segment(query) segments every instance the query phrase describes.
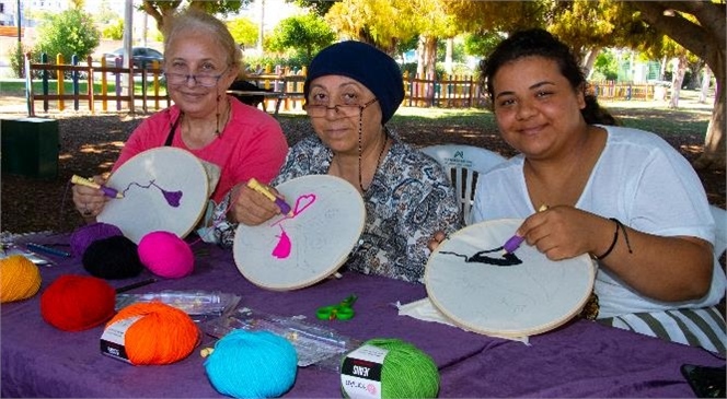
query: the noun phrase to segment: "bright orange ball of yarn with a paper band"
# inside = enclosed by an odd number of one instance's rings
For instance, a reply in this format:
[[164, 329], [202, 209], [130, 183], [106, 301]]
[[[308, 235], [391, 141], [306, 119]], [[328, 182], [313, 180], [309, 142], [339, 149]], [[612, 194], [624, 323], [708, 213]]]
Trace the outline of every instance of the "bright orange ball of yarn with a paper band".
[[170, 364], [186, 357], [200, 340], [192, 318], [176, 307], [161, 302], [136, 303], [122, 308], [108, 320], [114, 322], [139, 317], [124, 336], [126, 355], [131, 364]]

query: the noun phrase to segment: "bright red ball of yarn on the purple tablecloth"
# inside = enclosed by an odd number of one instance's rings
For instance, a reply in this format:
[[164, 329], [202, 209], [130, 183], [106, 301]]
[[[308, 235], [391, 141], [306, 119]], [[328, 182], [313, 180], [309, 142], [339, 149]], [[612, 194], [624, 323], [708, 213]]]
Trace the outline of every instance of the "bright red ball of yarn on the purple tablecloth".
[[64, 331], [82, 331], [114, 316], [116, 291], [106, 281], [89, 275], [64, 274], [41, 295], [41, 315]]

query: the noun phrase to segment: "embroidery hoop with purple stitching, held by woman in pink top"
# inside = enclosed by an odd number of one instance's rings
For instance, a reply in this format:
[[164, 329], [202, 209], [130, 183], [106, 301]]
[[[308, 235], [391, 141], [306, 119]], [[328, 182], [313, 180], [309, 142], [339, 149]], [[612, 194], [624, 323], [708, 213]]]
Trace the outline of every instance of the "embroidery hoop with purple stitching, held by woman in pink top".
[[[182, 191], [178, 207], [172, 207], [161, 189]], [[207, 172], [191, 152], [160, 146], [143, 151], [114, 172], [108, 187], [124, 193], [106, 202], [96, 220], [118, 226], [136, 244], [148, 233], [166, 231], [184, 238], [200, 220], [209, 192]], [[127, 190], [128, 188], [128, 190]]]

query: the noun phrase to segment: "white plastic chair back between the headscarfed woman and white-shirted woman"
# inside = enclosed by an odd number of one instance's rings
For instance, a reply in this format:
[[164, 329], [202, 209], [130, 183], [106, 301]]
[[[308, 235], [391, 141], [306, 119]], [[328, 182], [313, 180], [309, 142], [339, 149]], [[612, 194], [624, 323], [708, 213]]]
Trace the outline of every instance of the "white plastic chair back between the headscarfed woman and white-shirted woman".
[[477, 176], [507, 160], [496, 152], [463, 144], [430, 145], [420, 151], [435, 159], [447, 172], [459, 197], [465, 223], [474, 203]]

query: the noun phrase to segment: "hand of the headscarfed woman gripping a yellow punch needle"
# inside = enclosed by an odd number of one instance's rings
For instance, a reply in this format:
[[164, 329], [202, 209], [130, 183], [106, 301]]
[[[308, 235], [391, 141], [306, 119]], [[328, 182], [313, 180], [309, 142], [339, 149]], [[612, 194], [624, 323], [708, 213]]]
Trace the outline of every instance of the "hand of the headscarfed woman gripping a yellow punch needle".
[[[277, 195], [274, 188], [270, 188], [270, 191]], [[280, 209], [274, 201], [245, 184], [235, 186], [232, 189], [231, 198], [232, 207], [230, 207], [228, 218], [238, 223], [255, 226], [280, 213]]]

